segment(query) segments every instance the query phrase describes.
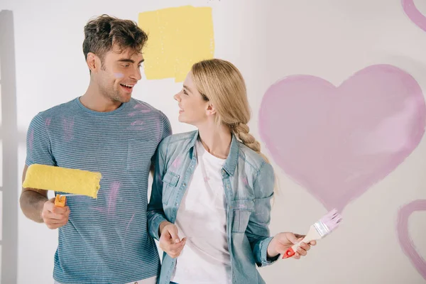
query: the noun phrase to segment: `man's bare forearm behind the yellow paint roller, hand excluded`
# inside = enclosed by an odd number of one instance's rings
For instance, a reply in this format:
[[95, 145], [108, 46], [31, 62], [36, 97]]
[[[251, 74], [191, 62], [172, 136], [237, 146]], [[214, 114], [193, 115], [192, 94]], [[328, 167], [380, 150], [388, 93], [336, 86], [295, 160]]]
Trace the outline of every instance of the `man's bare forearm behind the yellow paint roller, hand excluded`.
[[[25, 180], [26, 171], [28, 165], [25, 165], [23, 168], [22, 182]], [[37, 190], [35, 188], [23, 188], [21, 192], [21, 198], [19, 203], [21, 204], [21, 210], [23, 214], [38, 223], [43, 223], [43, 217], [41, 217], [41, 212], [43, 212], [43, 206], [45, 202], [48, 201], [48, 191], [47, 190]]]

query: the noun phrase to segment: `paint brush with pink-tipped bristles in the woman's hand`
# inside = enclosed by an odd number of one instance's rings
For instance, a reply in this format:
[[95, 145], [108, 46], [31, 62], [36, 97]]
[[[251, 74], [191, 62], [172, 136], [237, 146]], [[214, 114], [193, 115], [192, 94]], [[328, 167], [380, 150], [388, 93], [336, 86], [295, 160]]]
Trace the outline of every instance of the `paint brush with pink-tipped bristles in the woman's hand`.
[[325, 214], [324, 217], [322, 217], [320, 220], [315, 222], [315, 224], [310, 226], [310, 229], [307, 232], [305, 238], [303, 238], [302, 241], [298, 242], [297, 244], [294, 244], [292, 247], [290, 247], [290, 249], [285, 251], [283, 258], [290, 258], [294, 256], [301, 242], [309, 244], [311, 241], [323, 239], [334, 229], [336, 229], [337, 226], [339, 226], [340, 222], [342, 222], [342, 217], [339, 213], [337, 213], [337, 209], [332, 209], [332, 211]]

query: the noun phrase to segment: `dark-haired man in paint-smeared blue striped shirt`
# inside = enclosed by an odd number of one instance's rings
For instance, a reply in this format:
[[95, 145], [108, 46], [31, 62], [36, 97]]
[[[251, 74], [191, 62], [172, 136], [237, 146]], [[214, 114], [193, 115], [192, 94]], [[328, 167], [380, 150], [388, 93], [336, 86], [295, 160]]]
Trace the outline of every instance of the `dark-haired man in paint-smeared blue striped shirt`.
[[148, 39], [136, 23], [103, 15], [84, 27], [87, 92], [37, 114], [26, 166], [38, 163], [102, 173], [98, 198], [23, 188], [26, 217], [59, 228], [55, 283], [155, 283], [160, 259], [148, 235], [148, 175], [158, 143], [171, 134], [161, 111], [131, 98]]

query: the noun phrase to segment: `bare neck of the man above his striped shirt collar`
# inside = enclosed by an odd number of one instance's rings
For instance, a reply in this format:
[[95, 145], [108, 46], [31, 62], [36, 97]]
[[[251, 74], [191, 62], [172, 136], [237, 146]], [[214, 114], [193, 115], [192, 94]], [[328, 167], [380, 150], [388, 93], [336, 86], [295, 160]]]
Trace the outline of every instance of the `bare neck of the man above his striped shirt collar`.
[[108, 112], [114, 111], [121, 106], [121, 102], [113, 101], [102, 94], [97, 86], [89, 84], [86, 93], [80, 97], [80, 102], [92, 111]]

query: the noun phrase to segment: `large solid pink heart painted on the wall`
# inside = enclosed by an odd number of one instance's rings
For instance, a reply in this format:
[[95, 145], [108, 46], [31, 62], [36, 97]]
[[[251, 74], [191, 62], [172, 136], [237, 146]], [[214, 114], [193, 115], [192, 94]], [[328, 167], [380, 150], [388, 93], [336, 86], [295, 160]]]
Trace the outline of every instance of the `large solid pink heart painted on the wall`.
[[417, 147], [425, 112], [413, 77], [373, 65], [339, 87], [307, 75], [273, 84], [261, 103], [259, 131], [285, 173], [327, 209], [342, 210]]

